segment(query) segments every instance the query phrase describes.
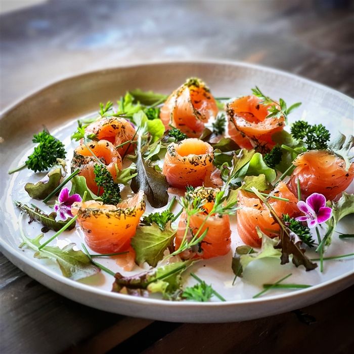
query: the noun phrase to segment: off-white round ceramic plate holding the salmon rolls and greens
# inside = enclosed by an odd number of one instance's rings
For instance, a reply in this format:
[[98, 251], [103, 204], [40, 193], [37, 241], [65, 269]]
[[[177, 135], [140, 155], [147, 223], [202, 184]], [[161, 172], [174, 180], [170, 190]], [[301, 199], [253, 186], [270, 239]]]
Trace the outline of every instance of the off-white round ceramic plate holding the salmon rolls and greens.
[[[61, 139], [68, 149], [70, 133], [75, 129], [76, 119], [97, 111], [99, 102], [117, 100], [126, 90], [140, 88], [170, 93], [187, 77], [201, 77], [211, 87], [216, 97], [240, 96], [250, 93], [258, 85], [274, 98], [282, 97], [288, 104], [302, 102], [300, 109], [291, 114], [291, 121], [300, 117], [310, 123], [325, 124], [332, 134], [338, 129], [351, 134], [353, 127], [353, 100], [323, 85], [287, 74], [278, 70], [241, 63], [226, 62], [179, 62], [148, 64], [97, 71], [62, 80], [21, 100], [3, 113], [1, 144], [1, 246], [5, 255], [32, 278], [54, 291], [80, 303], [105, 311], [144, 317], [149, 319], [179, 322], [228, 322], [270, 316], [309, 305], [331, 296], [354, 283], [354, 259], [325, 262], [325, 271], [318, 269], [305, 272], [292, 263], [280, 266], [278, 260], [255, 261], [232, 286], [232, 254], [200, 261], [192, 270], [227, 299], [208, 303], [171, 302], [155, 298], [139, 298], [110, 292], [111, 276], [101, 273], [90, 279], [75, 282], [64, 278], [57, 265], [48, 260], [33, 258], [31, 250], [18, 248], [20, 236], [12, 200], [28, 201], [23, 186], [28, 180], [35, 181], [27, 170], [12, 176], [9, 168], [16, 167], [30, 153], [31, 137], [45, 124]], [[351, 186], [352, 192], [352, 186]], [[41, 205], [37, 203], [37, 205]], [[233, 250], [241, 244], [232, 220]], [[29, 235], [39, 233], [36, 223], [25, 225]], [[338, 231], [353, 233], [352, 219], [346, 218]], [[50, 237], [51, 232], [46, 234]], [[77, 231], [62, 234], [57, 244], [74, 241], [80, 244]], [[339, 240], [326, 255], [353, 252], [352, 240]], [[308, 254], [311, 255], [310, 252]], [[315, 256], [315, 254], [313, 254]], [[114, 260], [100, 259], [112, 270], [119, 270]], [[203, 267], [205, 265], [205, 267]], [[137, 268], [134, 273], [138, 273]], [[124, 273], [124, 272], [123, 272]], [[187, 272], [188, 273], [188, 272]], [[292, 283], [310, 284], [313, 287], [294, 291], [269, 291], [264, 296], [252, 299], [261, 290], [263, 283], [270, 283], [292, 273]], [[186, 284], [194, 281], [189, 277]]]

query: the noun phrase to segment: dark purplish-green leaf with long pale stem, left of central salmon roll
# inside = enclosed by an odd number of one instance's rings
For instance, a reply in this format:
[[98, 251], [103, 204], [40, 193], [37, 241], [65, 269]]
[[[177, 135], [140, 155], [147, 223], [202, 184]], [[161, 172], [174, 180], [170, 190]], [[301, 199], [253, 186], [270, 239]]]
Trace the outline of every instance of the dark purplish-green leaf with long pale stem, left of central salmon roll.
[[143, 190], [148, 198], [149, 203], [154, 208], [161, 208], [168, 202], [168, 183], [166, 177], [158, 172], [153, 166], [150, 166], [149, 161], [146, 161], [144, 154], [147, 146], [143, 146], [142, 135], [146, 129], [146, 123], [140, 122], [140, 134], [137, 141], [137, 172], [138, 174], [131, 180], [130, 188], [137, 193]]

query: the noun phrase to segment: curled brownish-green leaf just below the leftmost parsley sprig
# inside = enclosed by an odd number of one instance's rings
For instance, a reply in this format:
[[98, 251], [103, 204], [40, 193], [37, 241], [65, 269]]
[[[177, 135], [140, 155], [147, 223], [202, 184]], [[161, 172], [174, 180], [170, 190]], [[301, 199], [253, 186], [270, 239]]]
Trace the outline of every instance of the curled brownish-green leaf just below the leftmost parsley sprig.
[[58, 159], [58, 162], [59, 164], [54, 165], [40, 181], [25, 184], [25, 191], [31, 198], [43, 200], [59, 186], [61, 178], [65, 175], [65, 161]]

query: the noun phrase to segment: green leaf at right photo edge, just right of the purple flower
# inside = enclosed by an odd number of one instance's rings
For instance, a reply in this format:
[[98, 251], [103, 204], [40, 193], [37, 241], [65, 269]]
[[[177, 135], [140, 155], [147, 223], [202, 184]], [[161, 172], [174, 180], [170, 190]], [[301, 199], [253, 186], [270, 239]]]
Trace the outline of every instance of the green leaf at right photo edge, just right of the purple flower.
[[354, 214], [354, 194], [343, 192], [343, 195], [337, 202], [328, 200], [327, 206], [332, 208], [332, 216], [326, 222], [327, 231], [324, 236], [326, 245], [328, 246], [332, 242], [332, 235], [339, 220], [346, 215]]

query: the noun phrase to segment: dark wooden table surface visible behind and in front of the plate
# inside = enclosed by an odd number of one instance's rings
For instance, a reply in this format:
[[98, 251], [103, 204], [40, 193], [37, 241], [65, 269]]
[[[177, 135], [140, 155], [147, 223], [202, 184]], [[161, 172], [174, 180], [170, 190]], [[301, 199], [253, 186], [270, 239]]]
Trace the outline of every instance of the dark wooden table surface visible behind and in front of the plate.
[[[260, 63], [354, 96], [350, 2], [53, 1], [1, 19], [1, 107], [61, 77], [146, 61]], [[254, 83], [250, 83], [252, 85]], [[43, 287], [1, 256], [8, 353], [346, 353], [354, 287], [307, 308], [232, 324], [153, 322], [98, 311]]]

